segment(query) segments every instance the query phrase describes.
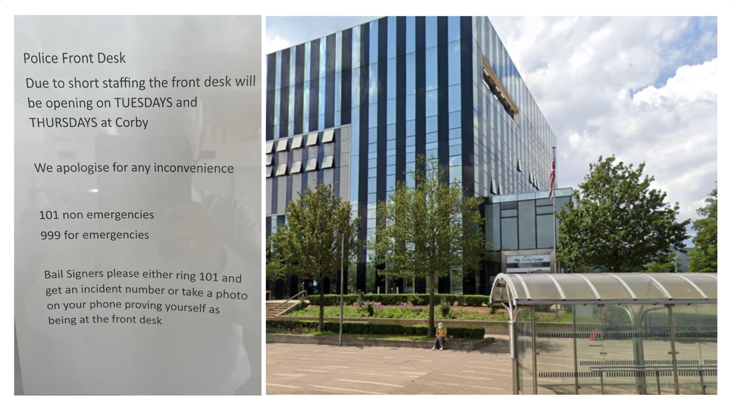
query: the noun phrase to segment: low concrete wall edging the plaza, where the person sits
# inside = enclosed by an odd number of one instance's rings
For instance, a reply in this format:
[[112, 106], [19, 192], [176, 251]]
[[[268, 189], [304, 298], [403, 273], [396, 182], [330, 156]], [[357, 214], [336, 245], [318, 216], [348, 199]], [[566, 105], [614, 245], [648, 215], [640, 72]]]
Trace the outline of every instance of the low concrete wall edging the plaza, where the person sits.
[[[339, 343], [338, 336], [312, 336], [300, 334], [265, 334], [265, 342], [281, 342], [286, 344], [320, 344], [336, 345]], [[477, 339], [475, 341], [451, 341], [446, 342], [446, 350], [472, 351], [494, 342], [493, 337]], [[370, 338], [360, 336], [345, 336], [342, 344], [348, 347], [403, 347], [403, 348], [432, 348], [432, 341], [418, 341], [416, 339], [388, 339]]]

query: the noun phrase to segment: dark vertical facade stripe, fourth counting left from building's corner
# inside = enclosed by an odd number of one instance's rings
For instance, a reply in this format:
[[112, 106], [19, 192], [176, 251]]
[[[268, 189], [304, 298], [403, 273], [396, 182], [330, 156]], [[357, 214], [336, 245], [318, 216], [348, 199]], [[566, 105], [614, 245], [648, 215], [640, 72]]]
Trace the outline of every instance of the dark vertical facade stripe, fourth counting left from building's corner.
[[395, 125], [395, 135], [397, 140], [395, 141], [395, 147], [397, 148], [397, 158], [395, 158], [395, 179], [399, 182], [405, 181], [405, 135], [407, 134], [407, 128], [405, 128], [405, 117], [407, 106], [405, 103], [405, 92], [407, 92], [407, 86], [405, 81], [407, 80], [407, 57], [405, 56], [405, 43], [407, 41], [406, 23], [407, 18], [397, 17], [397, 27], [395, 29], [395, 37], [397, 39], [397, 59], [395, 61], [396, 67], [396, 82], [395, 82], [395, 95], [397, 95], [397, 111], [395, 119], [397, 121]]

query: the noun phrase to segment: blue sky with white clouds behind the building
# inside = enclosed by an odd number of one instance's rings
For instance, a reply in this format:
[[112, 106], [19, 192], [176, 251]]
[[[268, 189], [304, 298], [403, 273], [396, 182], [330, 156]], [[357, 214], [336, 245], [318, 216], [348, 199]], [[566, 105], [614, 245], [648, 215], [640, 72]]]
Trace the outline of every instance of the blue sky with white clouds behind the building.
[[[371, 19], [268, 17], [265, 52]], [[716, 18], [490, 20], [557, 137], [561, 186], [614, 154], [696, 218], [718, 180]]]

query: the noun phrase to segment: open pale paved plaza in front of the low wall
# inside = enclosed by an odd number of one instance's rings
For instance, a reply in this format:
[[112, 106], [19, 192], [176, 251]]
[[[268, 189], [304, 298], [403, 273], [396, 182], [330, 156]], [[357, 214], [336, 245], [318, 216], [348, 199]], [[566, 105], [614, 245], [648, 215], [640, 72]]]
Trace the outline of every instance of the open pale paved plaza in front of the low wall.
[[480, 350], [267, 344], [268, 394], [511, 394], [509, 337]]

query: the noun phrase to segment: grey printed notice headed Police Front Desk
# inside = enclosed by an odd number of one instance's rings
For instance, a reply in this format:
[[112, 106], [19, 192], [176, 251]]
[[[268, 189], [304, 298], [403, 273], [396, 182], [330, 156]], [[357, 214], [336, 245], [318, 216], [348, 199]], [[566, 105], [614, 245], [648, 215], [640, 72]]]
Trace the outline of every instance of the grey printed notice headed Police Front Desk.
[[260, 25], [15, 19], [23, 394], [260, 393]]

